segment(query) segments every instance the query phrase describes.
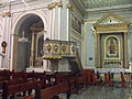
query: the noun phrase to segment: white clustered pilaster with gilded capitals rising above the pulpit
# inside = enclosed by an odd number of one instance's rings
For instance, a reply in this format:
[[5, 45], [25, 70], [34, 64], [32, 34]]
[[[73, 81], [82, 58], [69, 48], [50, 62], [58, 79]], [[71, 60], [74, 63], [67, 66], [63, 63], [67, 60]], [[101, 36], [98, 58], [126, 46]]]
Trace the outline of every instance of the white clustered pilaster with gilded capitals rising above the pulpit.
[[51, 38], [68, 41], [70, 33], [70, 11], [73, 10], [69, 1], [54, 1], [47, 8], [51, 13]]

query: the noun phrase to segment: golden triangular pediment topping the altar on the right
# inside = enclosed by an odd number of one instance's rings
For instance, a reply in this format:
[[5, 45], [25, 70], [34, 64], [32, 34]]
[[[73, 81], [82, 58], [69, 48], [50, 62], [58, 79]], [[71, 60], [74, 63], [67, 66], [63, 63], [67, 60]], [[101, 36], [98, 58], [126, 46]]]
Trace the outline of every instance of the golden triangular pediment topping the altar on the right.
[[[111, 22], [107, 22], [108, 20], [110, 20]], [[118, 22], [112, 23], [112, 20], [117, 20]], [[118, 16], [117, 14], [110, 12], [108, 14], [106, 14], [105, 16], [102, 16], [100, 20], [98, 20], [95, 24], [94, 28], [97, 31], [97, 33], [102, 33], [105, 31], [128, 31], [128, 29], [130, 28], [131, 23], [121, 18]]]

